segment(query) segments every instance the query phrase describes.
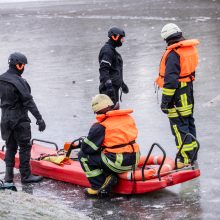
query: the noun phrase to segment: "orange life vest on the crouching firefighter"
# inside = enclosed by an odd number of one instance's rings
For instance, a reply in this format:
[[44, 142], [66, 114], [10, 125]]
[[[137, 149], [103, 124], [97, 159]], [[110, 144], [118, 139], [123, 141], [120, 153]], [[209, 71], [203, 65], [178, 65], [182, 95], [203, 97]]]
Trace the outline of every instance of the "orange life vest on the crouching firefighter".
[[134, 119], [129, 115], [132, 109], [113, 110], [97, 115], [98, 123], [105, 127], [102, 146], [104, 153], [132, 153], [139, 151], [135, 142], [138, 130]]

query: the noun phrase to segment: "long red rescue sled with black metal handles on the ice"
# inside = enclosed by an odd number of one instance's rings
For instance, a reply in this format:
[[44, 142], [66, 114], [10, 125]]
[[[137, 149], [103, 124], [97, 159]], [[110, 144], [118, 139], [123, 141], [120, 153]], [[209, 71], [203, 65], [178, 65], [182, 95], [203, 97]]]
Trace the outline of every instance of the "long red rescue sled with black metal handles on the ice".
[[[183, 148], [187, 136], [191, 136], [193, 139], [195, 139], [198, 148], [193, 156], [192, 164], [182, 169], [177, 169], [177, 157]], [[36, 142], [52, 144], [55, 146], [55, 149], [38, 145]], [[69, 154], [71, 150], [74, 152], [77, 148], [74, 142], [72, 142], [71, 147], [73, 149], [70, 148], [67, 154]], [[155, 147], [158, 147], [161, 150], [162, 155], [153, 156], [151, 154]], [[168, 186], [176, 185], [178, 183], [186, 182], [200, 176], [199, 168], [196, 167], [193, 163], [194, 158], [198, 153], [199, 147], [200, 145], [196, 138], [191, 134], [187, 134], [183, 140], [182, 146], [177, 153], [176, 159], [173, 160], [166, 157], [166, 152], [158, 143], [154, 143], [151, 146], [148, 155], [146, 157], [141, 157], [140, 162], [135, 170], [119, 174], [119, 181], [118, 184], [113, 187], [113, 192], [120, 194], [147, 193], [163, 189]], [[67, 161], [64, 160], [61, 165], [42, 160], [46, 156], [58, 155], [60, 152], [64, 151], [58, 150], [56, 143], [33, 139], [31, 151], [32, 173], [55, 180], [89, 187], [90, 184], [76, 157], [75, 159], [71, 158], [67, 159]], [[0, 158], [4, 160], [4, 157], [5, 151], [4, 147], [2, 147], [2, 150], [0, 151]], [[18, 154], [16, 155], [15, 166], [16, 168], [19, 167]]]

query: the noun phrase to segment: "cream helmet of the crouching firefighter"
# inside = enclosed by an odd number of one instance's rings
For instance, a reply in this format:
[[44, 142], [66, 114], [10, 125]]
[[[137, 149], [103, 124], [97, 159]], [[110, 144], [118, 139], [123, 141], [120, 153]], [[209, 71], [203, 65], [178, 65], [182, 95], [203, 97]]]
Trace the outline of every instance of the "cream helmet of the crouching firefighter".
[[107, 107], [113, 107], [114, 103], [112, 100], [105, 94], [98, 94], [92, 98], [92, 110], [94, 113], [97, 113]]

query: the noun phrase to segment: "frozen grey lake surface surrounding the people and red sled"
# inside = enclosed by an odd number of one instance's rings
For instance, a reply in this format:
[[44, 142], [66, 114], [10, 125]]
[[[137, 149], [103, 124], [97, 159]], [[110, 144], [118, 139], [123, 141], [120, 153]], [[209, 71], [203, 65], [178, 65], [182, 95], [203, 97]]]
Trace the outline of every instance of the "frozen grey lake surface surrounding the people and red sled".
[[[153, 82], [165, 48], [161, 28], [180, 26], [186, 38], [200, 40], [195, 83], [195, 118], [201, 143], [201, 177], [141, 196], [91, 200], [83, 189], [45, 180], [25, 191], [83, 211], [93, 219], [219, 219], [220, 214], [220, 2], [209, 0], [74, 0], [0, 4], [0, 70], [11, 52], [27, 55], [24, 78], [47, 123], [33, 137], [57, 142], [86, 135], [94, 115], [90, 100], [98, 92], [98, 53], [112, 26], [125, 29], [119, 48], [130, 93], [122, 108], [133, 108], [142, 154], [159, 142], [168, 155], [176, 148], [169, 122], [160, 111]], [[3, 166], [0, 165], [1, 169]], [[18, 188], [21, 189], [19, 181]]]

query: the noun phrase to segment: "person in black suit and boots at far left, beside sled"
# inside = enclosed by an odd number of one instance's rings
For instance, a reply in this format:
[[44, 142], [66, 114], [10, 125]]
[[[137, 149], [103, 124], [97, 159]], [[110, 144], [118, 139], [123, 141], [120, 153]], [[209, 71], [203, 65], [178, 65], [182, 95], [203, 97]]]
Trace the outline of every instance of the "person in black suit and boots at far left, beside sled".
[[0, 75], [0, 99], [1, 99], [1, 135], [6, 142], [5, 153], [5, 183], [13, 183], [15, 154], [19, 146], [19, 170], [22, 183], [39, 182], [41, 176], [31, 174], [31, 127], [28, 111], [37, 120], [39, 131], [44, 131], [46, 124], [31, 95], [31, 88], [22, 78], [27, 58], [25, 55], [15, 52], [8, 58], [9, 69]]

